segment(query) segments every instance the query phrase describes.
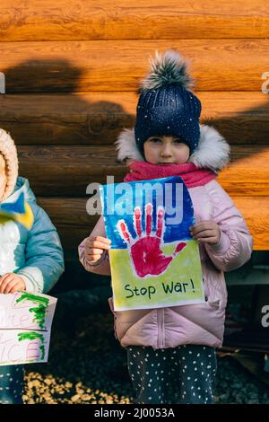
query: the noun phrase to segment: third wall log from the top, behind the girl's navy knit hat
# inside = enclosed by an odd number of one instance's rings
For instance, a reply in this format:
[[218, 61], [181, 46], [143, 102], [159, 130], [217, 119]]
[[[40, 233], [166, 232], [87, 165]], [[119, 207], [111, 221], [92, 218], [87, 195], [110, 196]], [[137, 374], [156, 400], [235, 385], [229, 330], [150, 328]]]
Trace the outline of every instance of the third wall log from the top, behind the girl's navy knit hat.
[[[230, 144], [267, 144], [269, 101], [263, 92], [198, 92], [201, 123], [212, 125]], [[113, 144], [133, 127], [133, 92], [0, 95], [0, 127], [17, 145]]]

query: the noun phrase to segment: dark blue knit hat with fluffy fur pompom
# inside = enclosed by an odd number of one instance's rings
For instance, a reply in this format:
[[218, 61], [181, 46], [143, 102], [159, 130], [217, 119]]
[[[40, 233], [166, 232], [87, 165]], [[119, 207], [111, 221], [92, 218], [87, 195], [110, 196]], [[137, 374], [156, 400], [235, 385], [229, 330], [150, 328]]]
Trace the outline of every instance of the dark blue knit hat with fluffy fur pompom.
[[143, 154], [143, 143], [150, 136], [178, 136], [192, 154], [200, 137], [201, 102], [188, 88], [193, 79], [187, 74], [187, 63], [177, 51], [156, 53], [152, 70], [140, 88], [136, 109], [134, 136]]

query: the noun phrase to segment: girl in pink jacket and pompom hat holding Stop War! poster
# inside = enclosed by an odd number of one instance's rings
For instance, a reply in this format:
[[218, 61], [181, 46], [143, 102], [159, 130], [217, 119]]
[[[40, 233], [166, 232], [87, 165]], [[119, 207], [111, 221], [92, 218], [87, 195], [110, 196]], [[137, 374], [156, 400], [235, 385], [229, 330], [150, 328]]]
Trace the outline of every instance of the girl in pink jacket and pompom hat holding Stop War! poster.
[[[205, 302], [151, 310], [115, 312], [116, 336], [126, 347], [136, 403], [167, 403], [177, 382], [180, 403], [213, 403], [215, 347], [221, 347], [227, 291], [223, 272], [251, 256], [252, 237], [243, 216], [215, 180], [230, 148], [213, 127], [199, 125], [201, 103], [176, 51], [156, 55], [143, 80], [134, 130], [117, 140], [127, 159], [125, 181], [179, 175], [195, 210], [189, 228], [199, 244]], [[103, 218], [79, 246], [84, 268], [108, 275], [110, 241]]]

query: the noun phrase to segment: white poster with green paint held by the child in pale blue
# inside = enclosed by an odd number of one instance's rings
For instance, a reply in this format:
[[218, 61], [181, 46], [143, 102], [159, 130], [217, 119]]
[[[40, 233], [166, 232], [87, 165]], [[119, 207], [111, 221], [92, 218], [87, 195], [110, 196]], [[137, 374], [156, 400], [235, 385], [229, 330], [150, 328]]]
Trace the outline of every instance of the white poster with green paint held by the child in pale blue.
[[0, 295], [0, 365], [48, 362], [56, 298], [27, 292]]

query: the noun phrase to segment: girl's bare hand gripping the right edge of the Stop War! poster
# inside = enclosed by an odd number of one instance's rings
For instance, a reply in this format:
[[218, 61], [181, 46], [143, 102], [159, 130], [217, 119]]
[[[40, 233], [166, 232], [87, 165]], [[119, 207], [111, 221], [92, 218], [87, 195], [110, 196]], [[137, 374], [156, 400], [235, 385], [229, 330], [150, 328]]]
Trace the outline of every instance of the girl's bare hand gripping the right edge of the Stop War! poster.
[[220, 242], [221, 229], [213, 220], [200, 221], [189, 227], [192, 237], [197, 242], [215, 245]]

